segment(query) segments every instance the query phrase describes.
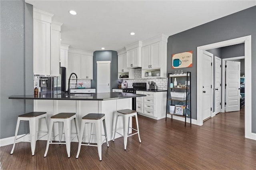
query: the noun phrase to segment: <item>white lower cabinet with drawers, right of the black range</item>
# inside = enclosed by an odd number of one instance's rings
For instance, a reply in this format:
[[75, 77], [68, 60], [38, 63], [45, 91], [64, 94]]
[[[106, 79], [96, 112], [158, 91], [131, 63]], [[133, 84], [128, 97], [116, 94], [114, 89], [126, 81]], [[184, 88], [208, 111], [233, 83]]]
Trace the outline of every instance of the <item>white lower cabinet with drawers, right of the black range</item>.
[[144, 94], [146, 97], [136, 97], [136, 111], [140, 115], [153, 119], [162, 119], [166, 115], [166, 91], [136, 91], [136, 94]]

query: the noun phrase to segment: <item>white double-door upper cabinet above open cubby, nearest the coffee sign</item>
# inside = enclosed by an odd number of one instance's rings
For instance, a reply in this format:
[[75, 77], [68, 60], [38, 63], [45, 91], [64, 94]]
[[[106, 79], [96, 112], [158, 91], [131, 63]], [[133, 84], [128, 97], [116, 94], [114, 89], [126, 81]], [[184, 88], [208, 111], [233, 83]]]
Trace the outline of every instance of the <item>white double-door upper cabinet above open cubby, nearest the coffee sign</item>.
[[156, 69], [160, 67], [160, 42], [142, 47], [142, 69]]

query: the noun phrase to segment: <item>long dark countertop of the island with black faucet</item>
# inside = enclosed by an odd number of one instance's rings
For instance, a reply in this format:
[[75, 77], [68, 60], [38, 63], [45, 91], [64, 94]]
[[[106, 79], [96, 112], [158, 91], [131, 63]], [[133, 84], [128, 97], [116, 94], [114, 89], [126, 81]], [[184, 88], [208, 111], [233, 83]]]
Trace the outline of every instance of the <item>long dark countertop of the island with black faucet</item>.
[[[138, 95], [138, 94], [133, 94], [133, 93], [121, 93], [121, 92], [75, 94], [75, 95], [70, 95], [70, 96], [60, 95], [60, 93], [64, 93], [64, 92], [62, 92], [62, 91], [46, 91], [46, 92], [40, 92], [39, 95], [10, 96], [9, 99], [105, 101], [105, 100], [126, 99], [126, 98], [146, 96], [146, 95]], [[59, 95], [57, 95], [57, 94], [59, 94]]]

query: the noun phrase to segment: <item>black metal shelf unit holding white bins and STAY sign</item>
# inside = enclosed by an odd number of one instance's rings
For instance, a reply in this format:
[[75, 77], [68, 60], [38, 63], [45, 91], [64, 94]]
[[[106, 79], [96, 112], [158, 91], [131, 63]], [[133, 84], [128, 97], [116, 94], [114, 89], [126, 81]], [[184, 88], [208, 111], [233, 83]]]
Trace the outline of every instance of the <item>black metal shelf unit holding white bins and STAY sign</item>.
[[[170, 87], [170, 83], [173, 83], [173, 79], [176, 78], [178, 83], [185, 84], [185, 81], [187, 82], [186, 87]], [[190, 82], [190, 83], [188, 83]], [[174, 75], [172, 73], [168, 73], [168, 90], [167, 90], [167, 101], [166, 101], [166, 118], [167, 120], [167, 115], [175, 115], [179, 117], [184, 117], [185, 118], [185, 126], [186, 126], [186, 118], [190, 118], [190, 125], [191, 125], [191, 72], [187, 72], [182, 75]], [[179, 100], [177, 98], [172, 99], [171, 92], [186, 92], [186, 98]], [[170, 105], [185, 105], [184, 113], [183, 115], [177, 115], [174, 113], [170, 113]]]

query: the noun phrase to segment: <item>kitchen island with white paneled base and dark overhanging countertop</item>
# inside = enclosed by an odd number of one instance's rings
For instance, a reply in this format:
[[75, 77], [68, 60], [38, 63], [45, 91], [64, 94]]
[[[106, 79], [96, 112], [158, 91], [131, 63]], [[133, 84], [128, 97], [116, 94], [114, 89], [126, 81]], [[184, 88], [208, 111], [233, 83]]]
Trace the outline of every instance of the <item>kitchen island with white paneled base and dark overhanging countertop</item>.
[[[116, 122], [116, 111], [122, 109], [132, 109], [133, 97], [144, 97], [146, 95], [138, 95], [132, 93], [92, 93], [92, 94], [78, 94], [78, 95], [63, 95], [61, 91], [40, 92], [38, 95], [16, 95], [10, 96], [9, 99], [26, 99], [34, 100], [34, 111], [47, 112], [48, 121], [50, 117], [61, 112], [76, 113], [77, 123], [80, 127], [81, 119], [88, 113], [104, 113], [106, 117], [106, 130], [108, 140], [112, 140], [114, 134], [114, 125]], [[117, 128], [122, 128], [122, 120], [118, 119]], [[46, 124], [42, 121], [40, 124], [42, 130], [47, 130]], [[130, 127], [132, 121], [130, 121]], [[71, 132], [75, 133], [76, 129], [74, 122], [71, 124]], [[95, 127], [93, 127], [94, 133]], [[54, 125], [54, 132], [52, 137], [58, 134], [58, 125]], [[122, 129], [119, 131], [122, 133]], [[87, 130], [84, 132], [84, 136], [88, 134]], [[95, 134], [95, 133], [94, 133]], [[104, 130], [102, 128], [102, 134]], [[75, 135], [74, 135], [75, 136]], [[116, 135], [116, 138], [120, 135]], [[47, 136], [42, 138], [47, 140]], [[58, 140], [58, 137], [56, 138]], [[64, 138], [63, 138], [64, 140]], [[77, 138], [74, 139], [77, 142]], [[96, 136], [92, 136], [92, 142], [96, 142]]]

